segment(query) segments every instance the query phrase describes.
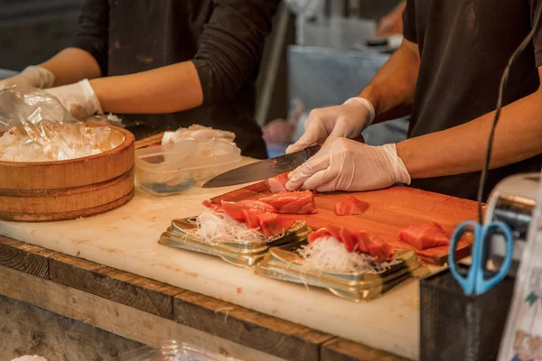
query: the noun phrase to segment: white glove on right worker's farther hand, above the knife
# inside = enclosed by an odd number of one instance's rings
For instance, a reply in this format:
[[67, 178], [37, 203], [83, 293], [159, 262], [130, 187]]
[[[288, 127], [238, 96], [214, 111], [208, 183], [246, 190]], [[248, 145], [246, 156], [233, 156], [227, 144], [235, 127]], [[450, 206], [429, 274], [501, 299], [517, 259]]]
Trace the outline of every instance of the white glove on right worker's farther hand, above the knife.
[[375, 118], [375, 108], [363, 97], [351, 97], [341, 106], [314, 109], [305, 120], [305, 132], [286, 153], [301, 151], [326, 139], [357, 138]]

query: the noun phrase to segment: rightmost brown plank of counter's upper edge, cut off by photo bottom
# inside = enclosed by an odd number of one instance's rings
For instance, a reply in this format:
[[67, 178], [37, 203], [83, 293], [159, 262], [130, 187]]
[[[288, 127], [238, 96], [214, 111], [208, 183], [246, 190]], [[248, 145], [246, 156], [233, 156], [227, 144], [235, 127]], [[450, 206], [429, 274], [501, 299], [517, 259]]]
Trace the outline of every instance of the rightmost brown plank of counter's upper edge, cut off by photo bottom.
[[406, 358], [351, 342], [333, 338], [322, 345], [321, 361], [406, 361]]

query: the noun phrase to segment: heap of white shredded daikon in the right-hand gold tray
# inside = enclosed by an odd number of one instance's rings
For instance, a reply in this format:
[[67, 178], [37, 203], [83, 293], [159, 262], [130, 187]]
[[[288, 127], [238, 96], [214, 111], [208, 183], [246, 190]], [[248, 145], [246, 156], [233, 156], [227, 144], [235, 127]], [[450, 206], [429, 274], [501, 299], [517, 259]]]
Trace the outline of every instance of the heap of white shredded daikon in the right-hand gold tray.
[[370, 255], [350, 253], [333, 236], [323, 236], [310, 245], [303, 245], [297, 253], [304, 258], [305, 267], [337, 273], [379, 273], [400, 262], [377, 262]]

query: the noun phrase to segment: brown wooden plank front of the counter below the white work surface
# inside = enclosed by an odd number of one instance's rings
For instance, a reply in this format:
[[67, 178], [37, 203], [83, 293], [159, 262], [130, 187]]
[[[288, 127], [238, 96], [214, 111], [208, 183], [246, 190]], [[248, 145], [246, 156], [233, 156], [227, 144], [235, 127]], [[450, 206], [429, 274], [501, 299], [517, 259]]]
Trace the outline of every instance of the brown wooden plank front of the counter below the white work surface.
[[4, 236], [0, 295], [0, 359], [111, 359], [176, 338], [243, 360], [405, 360]]

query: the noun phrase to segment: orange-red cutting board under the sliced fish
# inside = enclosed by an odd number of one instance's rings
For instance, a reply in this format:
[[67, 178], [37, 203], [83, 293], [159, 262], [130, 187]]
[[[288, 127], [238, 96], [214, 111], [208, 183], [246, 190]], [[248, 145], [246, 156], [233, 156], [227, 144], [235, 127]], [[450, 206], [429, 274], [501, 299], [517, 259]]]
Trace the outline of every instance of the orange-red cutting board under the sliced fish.
[[[259, 182], [215, 197], [211, 202], [219, 204], [222, 200], [237, 202], [242, 199], [257, 199], [268, 194], [270, 193], [265, 183]], [[335, 204], [349, 196], [369, 202], [369, 209], [358, 216], [336, 216]], [[388, 244], [400, 249], [414, 248], [398, 239], [401, 228], [433, 220], [451, 235], [453, 229], [461, 222], [478, 217], [478, 205], [472, 200], [402, 186], [356, 193], [317, 193], [315, 201], [318, 210], [316, 214], [285, 215], [285, 217], [304, 219], [313, 229], [333, 225], [351, 230], [365, 230], [369, 235], [381, 236]], [[470, 255], [471, 243], [472, 239], [463, 238], [457, 250], [458, 259]], [[416, 253], [426, 263], [445, 264], [449, 247], [435, 247]]]

